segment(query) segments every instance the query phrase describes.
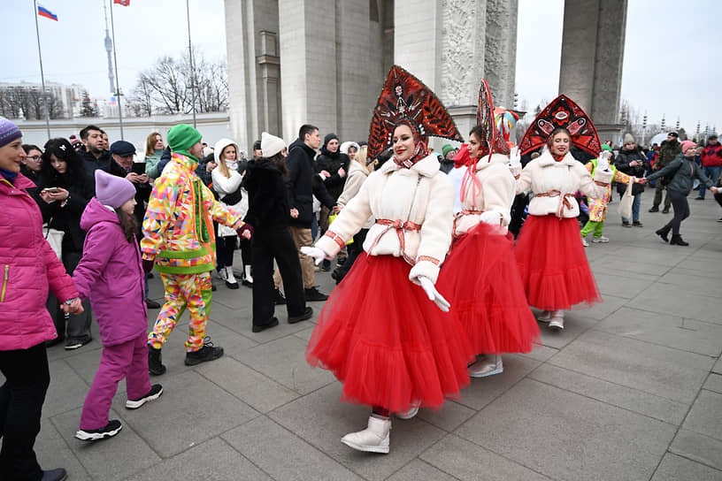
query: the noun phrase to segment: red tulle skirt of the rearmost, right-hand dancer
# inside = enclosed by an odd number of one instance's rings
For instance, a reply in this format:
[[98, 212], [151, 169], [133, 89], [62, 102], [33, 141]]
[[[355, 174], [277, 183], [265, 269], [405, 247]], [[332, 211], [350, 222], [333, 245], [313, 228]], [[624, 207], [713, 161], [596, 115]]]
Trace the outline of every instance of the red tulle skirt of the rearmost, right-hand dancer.
[[529, 305], [557, 310], [602, 302], [576, 218], [529, 216], [514, 254]]

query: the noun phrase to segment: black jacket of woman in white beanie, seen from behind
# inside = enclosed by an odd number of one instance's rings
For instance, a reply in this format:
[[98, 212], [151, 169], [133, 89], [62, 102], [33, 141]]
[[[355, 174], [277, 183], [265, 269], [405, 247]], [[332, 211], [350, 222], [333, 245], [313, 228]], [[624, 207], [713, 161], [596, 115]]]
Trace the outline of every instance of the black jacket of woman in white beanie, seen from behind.
[[256, 232], [288, 227], [288, 195], [280, 171], [266, 159], [251, 160], [242, 182], [249, 194], [244, 222]]

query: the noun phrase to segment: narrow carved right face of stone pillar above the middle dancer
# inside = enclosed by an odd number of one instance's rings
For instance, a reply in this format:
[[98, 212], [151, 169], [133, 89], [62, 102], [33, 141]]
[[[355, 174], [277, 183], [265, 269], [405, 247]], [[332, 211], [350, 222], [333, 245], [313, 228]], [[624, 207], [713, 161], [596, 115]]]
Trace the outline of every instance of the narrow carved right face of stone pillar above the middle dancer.
[[514, 107], [518, 0], [487, 0], [484, 77], [496, 106]]

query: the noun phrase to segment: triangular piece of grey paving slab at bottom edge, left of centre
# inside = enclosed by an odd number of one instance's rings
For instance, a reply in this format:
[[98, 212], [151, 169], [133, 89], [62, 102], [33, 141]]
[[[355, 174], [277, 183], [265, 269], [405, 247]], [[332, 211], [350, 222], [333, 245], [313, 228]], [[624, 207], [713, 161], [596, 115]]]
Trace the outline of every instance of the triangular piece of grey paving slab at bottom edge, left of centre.
[[[74, 479], [74, 478], [73, 478]], [[213, 438], [143, 470], [127, 481], [203, 479], [204, 481], [271, 481], [273, 478], [238, 454], [223, 439]]]

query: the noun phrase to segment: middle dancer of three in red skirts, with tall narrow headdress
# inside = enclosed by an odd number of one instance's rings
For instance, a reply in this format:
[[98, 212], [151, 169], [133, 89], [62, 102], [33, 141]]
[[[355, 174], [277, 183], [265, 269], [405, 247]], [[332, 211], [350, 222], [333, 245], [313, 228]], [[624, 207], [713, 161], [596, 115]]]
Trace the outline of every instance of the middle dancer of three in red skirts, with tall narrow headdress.
[[[515, 181], [509, 170], [509, 145], [495, 131], [487, 82], [482, 80], [477, 122], [469, 134], [468, 166], [449, 172], [464, 176], [452, 183], [460, 209], [454, 216], [454, 243], [443, 264], [438, 286], [451, 296], [452, 311], [480, 360], [469, 366], [472, 378], [503, 372], [502, 353], [527, 353], [539, 327], [526, 304], [507, 237]], [[513, 239], [513, 238], [512, 238]], [[470, 266], [473, 266], [470, 268]]]

